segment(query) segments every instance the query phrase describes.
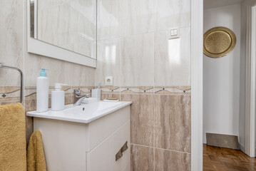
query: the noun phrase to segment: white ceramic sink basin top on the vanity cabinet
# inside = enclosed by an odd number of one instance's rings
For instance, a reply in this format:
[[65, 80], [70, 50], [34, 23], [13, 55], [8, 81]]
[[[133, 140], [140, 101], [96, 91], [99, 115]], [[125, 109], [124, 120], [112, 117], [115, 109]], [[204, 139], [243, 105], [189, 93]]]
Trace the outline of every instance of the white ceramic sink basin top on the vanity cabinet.
[[116, 110], [124, 108], [130, 105], [131, 102], [103, 102], [99, 101], [97, 103], [81, 104], [81, 105], [66, 105], [64, 110], [61, 111], [51, 111], [49, 109], [47, 112], [38, 113], [36, 111], [31, 111], [26, 113], [26, 115], [37, 118], [49, 118], [55, 120], [66, 120], [76, 123], [90, 123], [93, 120], [113, 113]]

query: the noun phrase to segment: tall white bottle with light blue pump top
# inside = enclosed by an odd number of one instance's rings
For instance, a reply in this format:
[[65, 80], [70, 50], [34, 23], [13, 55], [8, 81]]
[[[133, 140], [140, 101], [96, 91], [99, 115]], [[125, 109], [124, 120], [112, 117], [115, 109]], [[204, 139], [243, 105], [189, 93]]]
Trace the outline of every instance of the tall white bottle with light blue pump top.
[[[42, 72], [36, 81], [36, 111], [46, 112], [48, 110], [49, 98], [49, 80], [47, 78], [46, 70], [42, 68]], [[49, 70], [48, 70], [49, 71]]]

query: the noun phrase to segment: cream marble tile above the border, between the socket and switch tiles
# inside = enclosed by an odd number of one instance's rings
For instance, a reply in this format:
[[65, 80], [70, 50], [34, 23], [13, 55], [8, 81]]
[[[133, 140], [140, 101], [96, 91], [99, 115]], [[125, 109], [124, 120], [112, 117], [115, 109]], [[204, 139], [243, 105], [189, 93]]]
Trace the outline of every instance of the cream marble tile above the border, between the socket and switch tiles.
[[122, 38], [121, 86], [153, 86], [154, 34]]

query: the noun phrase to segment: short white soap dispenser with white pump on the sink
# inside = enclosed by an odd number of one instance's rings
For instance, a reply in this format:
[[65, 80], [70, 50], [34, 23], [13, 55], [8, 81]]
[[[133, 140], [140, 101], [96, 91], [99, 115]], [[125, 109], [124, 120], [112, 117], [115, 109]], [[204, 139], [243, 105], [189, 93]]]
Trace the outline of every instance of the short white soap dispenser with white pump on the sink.
[[63, 110], [65, 105], [65, 93], [61, 90], [61, 86], [67, 84], [55, 83], [55, 90], [51, 91], [51, 110]]

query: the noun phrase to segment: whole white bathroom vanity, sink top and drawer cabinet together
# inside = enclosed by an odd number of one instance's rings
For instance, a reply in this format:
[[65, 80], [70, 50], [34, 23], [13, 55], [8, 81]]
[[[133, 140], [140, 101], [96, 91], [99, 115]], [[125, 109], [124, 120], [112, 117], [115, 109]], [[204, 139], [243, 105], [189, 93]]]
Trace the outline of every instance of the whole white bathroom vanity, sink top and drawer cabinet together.
[[130, 104], [99, 101], [26, 113], [42, 133], [47, 170], [130, 170]]

